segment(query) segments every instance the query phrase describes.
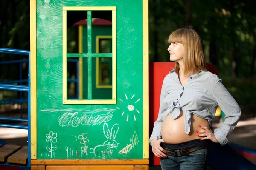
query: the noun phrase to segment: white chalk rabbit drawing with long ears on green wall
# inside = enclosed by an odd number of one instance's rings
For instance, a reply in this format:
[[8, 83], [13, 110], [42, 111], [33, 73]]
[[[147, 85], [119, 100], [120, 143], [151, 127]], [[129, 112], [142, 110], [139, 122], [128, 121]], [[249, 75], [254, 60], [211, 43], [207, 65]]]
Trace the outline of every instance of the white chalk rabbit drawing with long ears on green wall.
[[90, 153], [94, 153], [96, 157], [100, 157], [103, 159], [105, 159], [107, 156], [111, 156], [113, 153], [113, 150], [111, 149], [118, 146], [118, 143], [115, 140], [118, 129], [119, 125], [117, 123], [112, 126], [111, 131], [108, 128], [108, 124], [104, 123], [103, 133], [108, 140], [106, 140], [103, 144], [94, 147], [94, 149], [90, 148]]

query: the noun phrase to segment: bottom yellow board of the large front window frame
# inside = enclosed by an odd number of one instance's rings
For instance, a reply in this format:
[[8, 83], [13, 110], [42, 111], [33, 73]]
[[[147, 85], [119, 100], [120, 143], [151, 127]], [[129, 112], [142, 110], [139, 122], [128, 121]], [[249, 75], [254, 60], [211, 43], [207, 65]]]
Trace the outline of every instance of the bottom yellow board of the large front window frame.
[[116, 104], [116, 100], [63, 100], [63, 104]]

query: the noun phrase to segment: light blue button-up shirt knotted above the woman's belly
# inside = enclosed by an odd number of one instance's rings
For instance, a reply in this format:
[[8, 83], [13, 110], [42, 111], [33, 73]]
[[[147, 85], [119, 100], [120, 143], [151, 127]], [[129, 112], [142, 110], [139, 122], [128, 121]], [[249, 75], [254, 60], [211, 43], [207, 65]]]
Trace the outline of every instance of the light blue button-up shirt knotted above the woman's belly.
[[170, 71], [163, 80], [158, 118], [154, 122], [150, 144], [152, 139], [161, 138], [161, 125], [168, 114], [176, 119], [180, 111], [184, 111], [185, 133], [189, 134], [191, 114], [207, 119], [211, 126], [218, 105], [226, 116], [221, 127], [214, 130], [214, 135], [221, 145], [225, 145], [231, 143], [227, 136], [236, 127], [241, 109], [221, 79], [209, 71], [200, 70], [190, 76], [183, 87], [175, 71]]

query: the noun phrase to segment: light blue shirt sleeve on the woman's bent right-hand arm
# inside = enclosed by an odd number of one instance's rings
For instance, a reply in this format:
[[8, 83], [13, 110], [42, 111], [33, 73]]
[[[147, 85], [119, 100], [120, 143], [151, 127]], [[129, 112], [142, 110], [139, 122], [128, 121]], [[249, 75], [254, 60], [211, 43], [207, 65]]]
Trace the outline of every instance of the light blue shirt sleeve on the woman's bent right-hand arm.
[[222, 84], [221, 79], [218, 78], [212, 90], [212, 96], [216, 103], [220, 106], [221, 110], [225, 113], [225, 121], [221, 123], [221, 127], [214, 130], [214, 135], [221, 146], [231, 143], [228, 141], [227, 136], [236, 127], [240, 116], [241, 108], [236, 100], [231, 96], [227, 89]]

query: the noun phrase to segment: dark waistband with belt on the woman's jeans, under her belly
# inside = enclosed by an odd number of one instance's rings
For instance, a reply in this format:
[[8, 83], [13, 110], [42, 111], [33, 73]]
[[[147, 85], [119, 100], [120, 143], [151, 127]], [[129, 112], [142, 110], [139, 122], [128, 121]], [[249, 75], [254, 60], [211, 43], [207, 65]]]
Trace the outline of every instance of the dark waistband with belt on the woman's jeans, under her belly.
[[166, 143], [166, 142], [161, 142], [160, 145], [164, 145], [165, 147], [168, 147], [170, 149], [189, 149], [189, 148], [193, 148], [193, 147], [201, 147], [201, 146], [205, 146], [205, 145], [209, 145], [210, 144], [210, 140], [200, 140], [200, 139], [194, 139], [194, 140], [190, 140], [190, 141], [186, 141], [186, 142], [182, 142], [182, 143], [178, 143], [178, 144], [170, 144], [170, 143]]

